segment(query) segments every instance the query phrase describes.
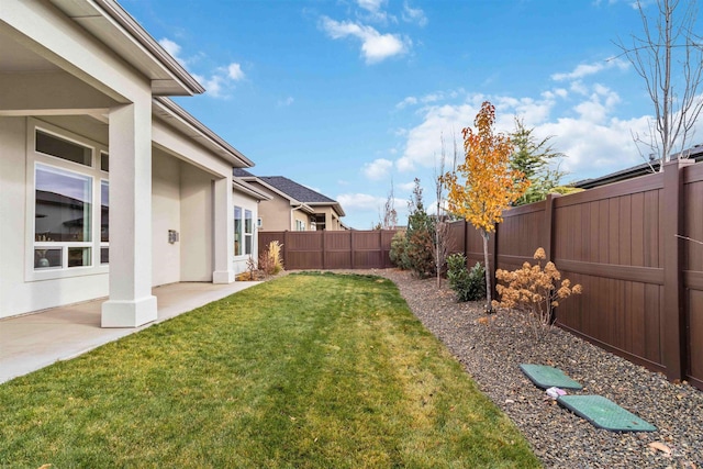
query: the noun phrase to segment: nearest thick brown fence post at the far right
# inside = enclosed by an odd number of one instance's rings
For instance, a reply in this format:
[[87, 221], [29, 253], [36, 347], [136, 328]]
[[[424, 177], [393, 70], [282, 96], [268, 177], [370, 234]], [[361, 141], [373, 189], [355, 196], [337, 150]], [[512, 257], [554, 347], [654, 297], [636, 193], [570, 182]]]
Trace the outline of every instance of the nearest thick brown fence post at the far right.
[[663, 190], [660, 215], [663, 237], [663, 310], [662, 314], [662, 362], [667, 378], [681, 379], [685, 371], [685, 316], [683, 291], [683, 168], [694, 163], [676, 159], [663, 165]]

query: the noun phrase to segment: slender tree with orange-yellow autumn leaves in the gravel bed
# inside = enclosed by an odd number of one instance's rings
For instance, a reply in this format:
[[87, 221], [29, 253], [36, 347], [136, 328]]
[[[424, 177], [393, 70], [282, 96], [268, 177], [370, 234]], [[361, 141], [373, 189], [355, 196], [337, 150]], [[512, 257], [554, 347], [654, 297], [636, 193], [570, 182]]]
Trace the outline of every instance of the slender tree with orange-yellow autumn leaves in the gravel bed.
[[486, 267], [487, 310], [491, 304], [491, 269], [488, 261], [488, 242], [495, 224], [503, 221], [507, 209], [529, 187], [522, 174], [511, 168], [513, 144], [510, 137], [494, 133], [495, 107], [486, 101], [476, 115], [476, 129], [466, 127], [464, 134], [465, 160], [454, 171], [440, 178], [448, 189], [449, 211], [469, 221], [483, 238]]

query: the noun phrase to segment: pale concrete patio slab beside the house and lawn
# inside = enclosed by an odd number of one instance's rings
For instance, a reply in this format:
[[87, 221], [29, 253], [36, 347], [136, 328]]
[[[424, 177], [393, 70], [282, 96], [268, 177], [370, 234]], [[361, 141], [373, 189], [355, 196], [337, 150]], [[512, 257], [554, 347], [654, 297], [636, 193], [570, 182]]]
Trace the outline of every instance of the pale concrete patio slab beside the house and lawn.
[[257, 283], [174, 283], [155, 288], [153, 294], [158, 302], [158, 319], [141, 327], [100, 327], [104, 298], [0, 320], [0, 383], [55, 361], [77, 357]]

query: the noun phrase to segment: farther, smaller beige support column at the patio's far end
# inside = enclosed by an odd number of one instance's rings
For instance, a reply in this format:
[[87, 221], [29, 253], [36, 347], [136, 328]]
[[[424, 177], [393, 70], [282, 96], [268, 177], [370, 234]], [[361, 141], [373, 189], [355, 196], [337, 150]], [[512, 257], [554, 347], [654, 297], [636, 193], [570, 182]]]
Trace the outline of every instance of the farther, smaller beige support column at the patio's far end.
[[[213, 185], [213, 283], [234, 281], [234, 203], [232, 202], [232, 175], [217, 179]], [[252, 220], [254, 223], [254, 220]], [[244, 241], [244, 239], [243, 239]]]

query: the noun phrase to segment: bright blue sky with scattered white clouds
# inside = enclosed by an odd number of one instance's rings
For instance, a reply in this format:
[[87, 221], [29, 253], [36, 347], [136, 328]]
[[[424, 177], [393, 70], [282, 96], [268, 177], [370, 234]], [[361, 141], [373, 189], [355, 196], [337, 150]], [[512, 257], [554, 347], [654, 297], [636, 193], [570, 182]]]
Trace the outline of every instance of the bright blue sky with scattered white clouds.
[[[121, 0], [208, 89], [176, 101], [256, 163], [339, 201], [368, 230], [496, 105], [553, 135], [569, 182], [643, 163], [652, 114], [614, 44], [641, 31], [632, 0]], [[646, 4], [650, 11], [655, 5]], [[703, 129], [701, 130], [703, 131]], [[699, 135], [701, 132], [699, 132]], [[701, 138], [699, 138], [701, 139]], [[699, 143], [698, 141], [693, 143]]]

